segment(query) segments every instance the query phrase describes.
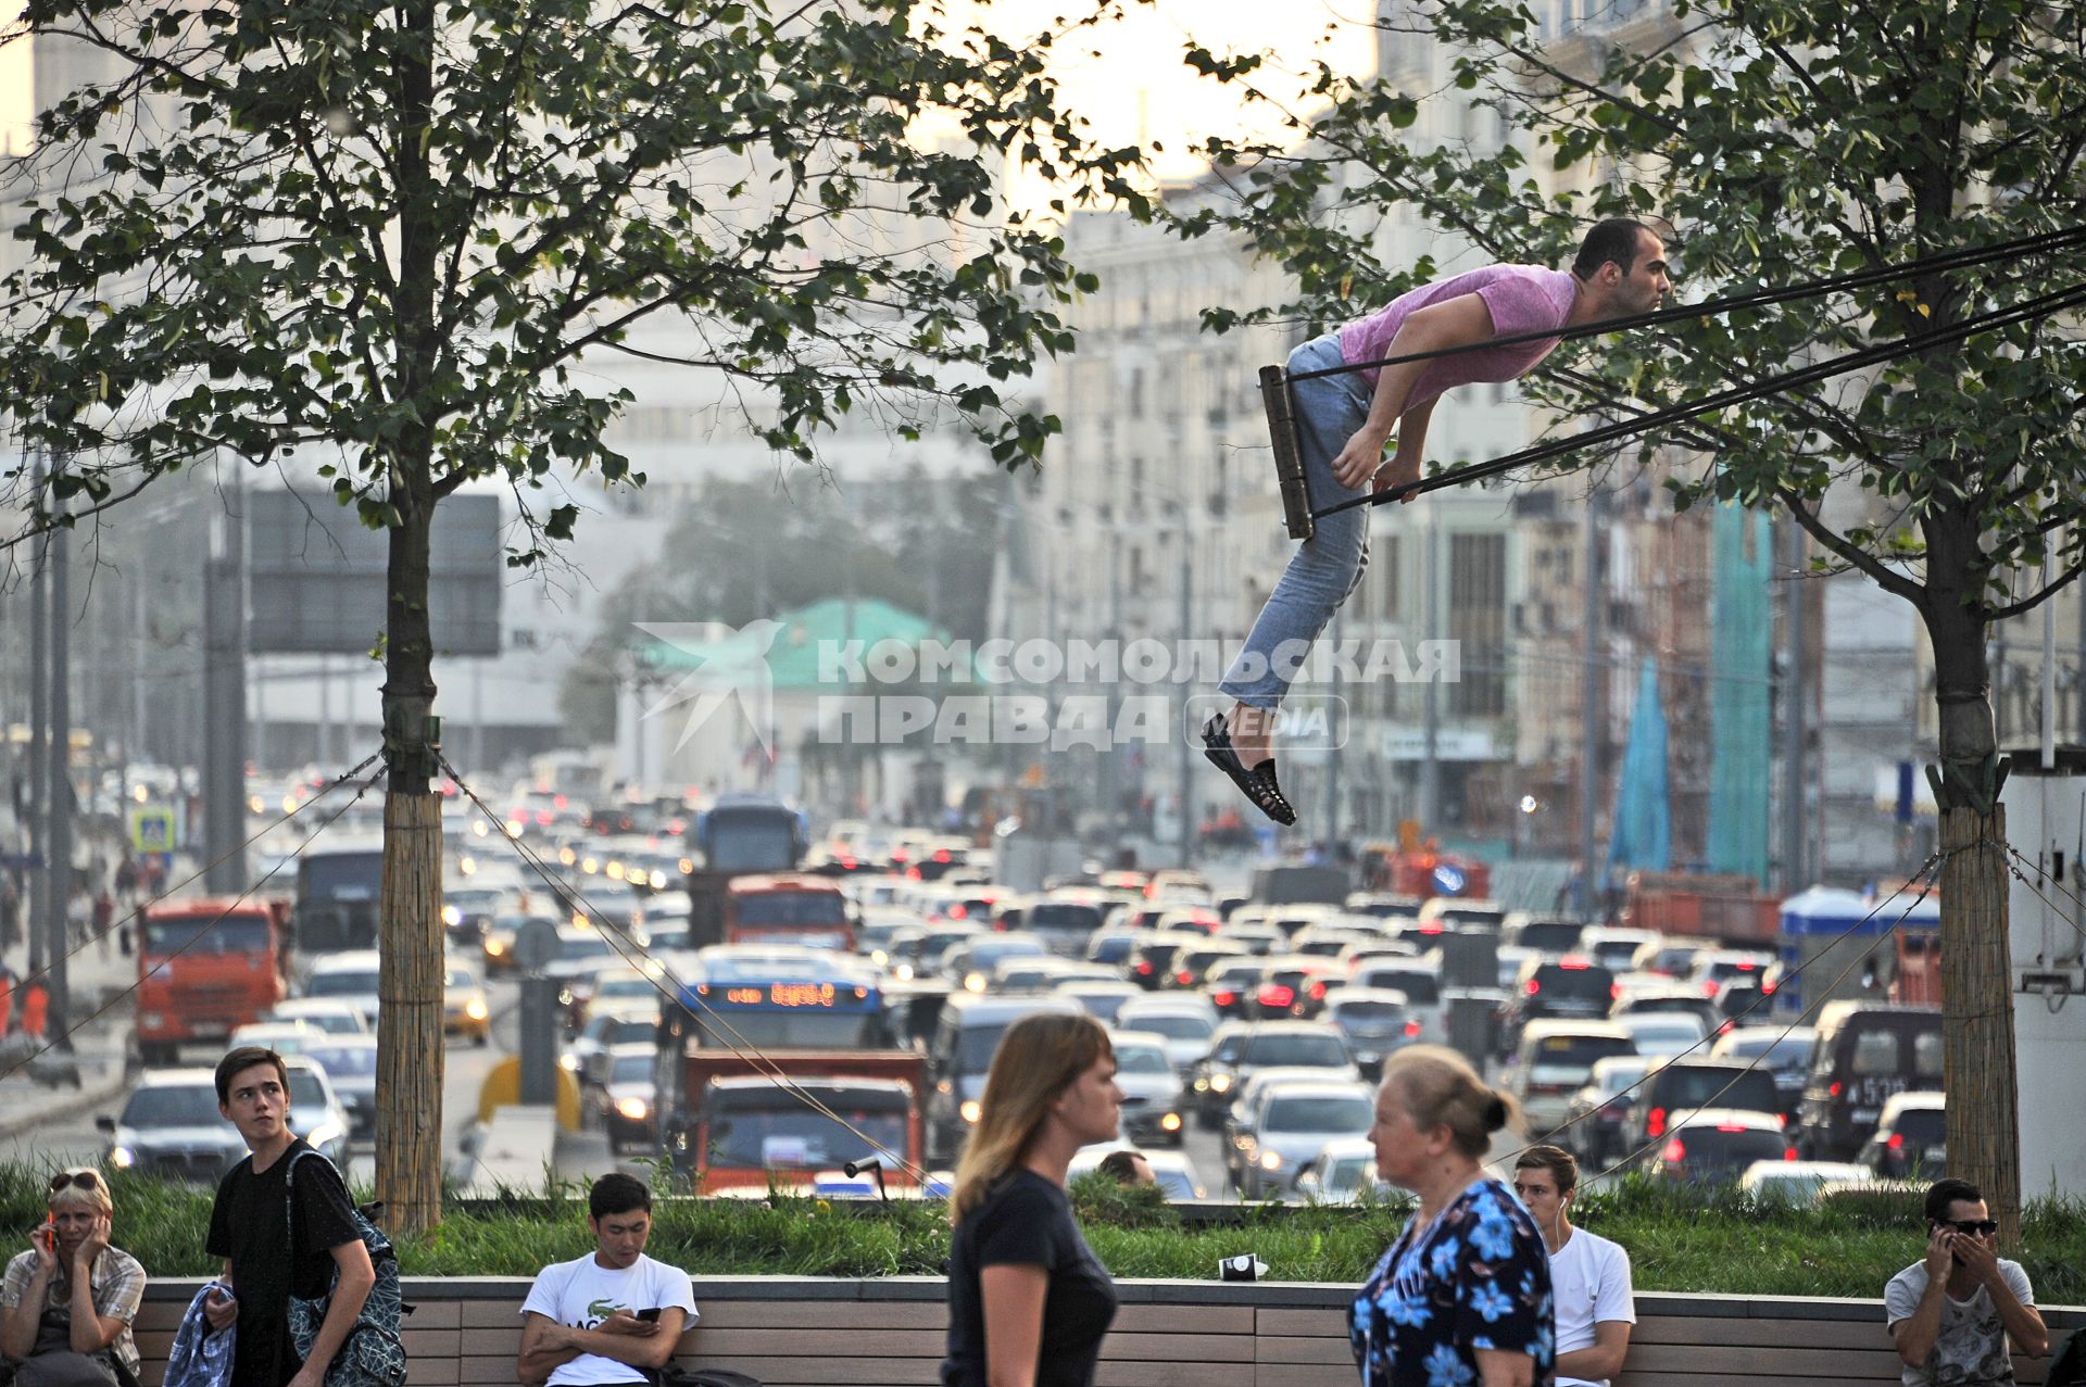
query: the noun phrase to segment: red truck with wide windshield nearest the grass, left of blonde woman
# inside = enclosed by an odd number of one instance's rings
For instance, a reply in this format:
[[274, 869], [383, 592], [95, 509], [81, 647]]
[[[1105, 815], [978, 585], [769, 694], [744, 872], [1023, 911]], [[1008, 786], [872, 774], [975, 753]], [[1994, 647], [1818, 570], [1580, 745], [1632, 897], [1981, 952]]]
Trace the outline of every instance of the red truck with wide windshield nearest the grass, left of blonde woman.
[[[791, 1082], [776, 1082], [774, 1070]], [[728, 1049], [690, 1049], [682, 1064], [686, 1110], [672, 1120], [668, 1145], [699, 1195], [809, 1189], [820, 1174], [872, 1158], [882, 1160], [884, 1185], [912, 1189], [909, 1170], [926, 1153], [924, 1076], [926, 1057], [909, 1049], [772, 1049], [759, 1068]]]

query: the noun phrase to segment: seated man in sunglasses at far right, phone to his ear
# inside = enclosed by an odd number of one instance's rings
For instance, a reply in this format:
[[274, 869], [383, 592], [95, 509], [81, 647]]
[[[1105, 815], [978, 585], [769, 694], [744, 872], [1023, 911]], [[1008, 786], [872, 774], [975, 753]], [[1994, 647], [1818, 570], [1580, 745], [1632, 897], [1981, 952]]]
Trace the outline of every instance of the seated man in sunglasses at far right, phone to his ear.
[[1884, 1316], [1905, 1387], [2013, 1387], [2013, 1356], [2042, 1356], [2051, 1333], [2019, 1262], [1998, 1256], [1998, 1224], [1969, 1181], [1927, 1189], [1927, 1256], [1890, 1279]]

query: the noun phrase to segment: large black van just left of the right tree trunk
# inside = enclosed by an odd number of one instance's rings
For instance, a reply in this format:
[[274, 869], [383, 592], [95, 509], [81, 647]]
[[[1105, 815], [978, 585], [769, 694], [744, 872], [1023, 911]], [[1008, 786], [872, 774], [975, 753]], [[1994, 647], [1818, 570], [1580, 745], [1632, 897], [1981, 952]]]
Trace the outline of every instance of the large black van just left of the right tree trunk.
[[1796, 1145], [1809, 1160], [1852, 1160], [1892, 1095], [1940, 1087], [1940, 1007], [1827, 1001], [1796, 1110]]

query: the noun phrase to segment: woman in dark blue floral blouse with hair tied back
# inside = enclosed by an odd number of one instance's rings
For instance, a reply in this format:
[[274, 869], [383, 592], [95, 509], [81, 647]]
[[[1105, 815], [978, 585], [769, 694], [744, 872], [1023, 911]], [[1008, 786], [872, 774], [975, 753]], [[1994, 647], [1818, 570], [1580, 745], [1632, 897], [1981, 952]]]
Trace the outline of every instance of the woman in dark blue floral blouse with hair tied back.
[[1479, 1164], [1512, 1099], [1452, 1049], [1383, 1064], [1377, 1174], [1421, 1208], [1354, 1297], [1364, 1387], [1552, 1387], [1550, 1256], [1527, 1210]]

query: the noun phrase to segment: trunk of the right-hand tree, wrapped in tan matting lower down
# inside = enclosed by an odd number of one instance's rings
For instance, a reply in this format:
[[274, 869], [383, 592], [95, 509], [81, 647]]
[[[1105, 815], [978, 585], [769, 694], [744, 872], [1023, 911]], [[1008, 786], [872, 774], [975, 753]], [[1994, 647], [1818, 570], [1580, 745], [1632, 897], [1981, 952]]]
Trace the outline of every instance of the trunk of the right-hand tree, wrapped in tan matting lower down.
[[[1948, 563], [1948, 526], [1927, 532], [1934, 576]], [[1961, 557], [1961, 555], [1957, 555]], [[2013, 968], [2007, 947], [2007, 811], [1996, 803], [1986, 624], [1959, 592], [1925, 611], [1934, 640], [1934, 697], [1942, 759], [1942, 1089], [1948, 1093], [1948, 1174], [1984, 1191], [2007, 1245], [2021, 1228], [2021, 1122], [2013, 1047]]]

